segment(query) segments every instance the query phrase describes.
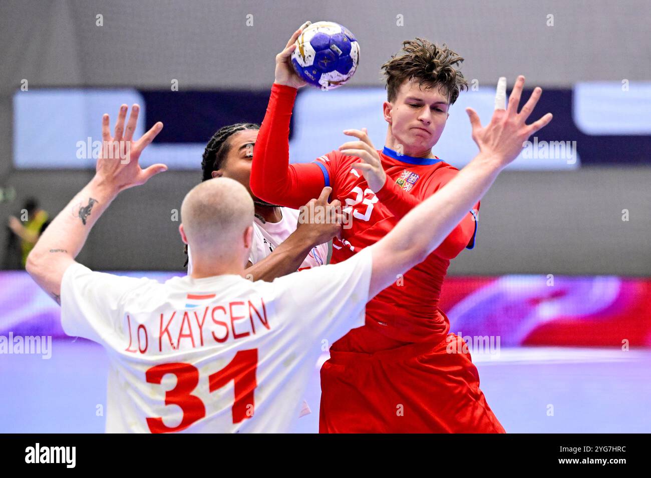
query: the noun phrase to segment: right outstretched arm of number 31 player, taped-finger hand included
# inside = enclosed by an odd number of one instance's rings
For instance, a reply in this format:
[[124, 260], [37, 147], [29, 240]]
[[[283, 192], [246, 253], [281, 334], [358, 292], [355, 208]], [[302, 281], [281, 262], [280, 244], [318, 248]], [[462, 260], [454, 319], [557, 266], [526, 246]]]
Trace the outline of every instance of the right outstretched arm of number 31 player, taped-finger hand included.
[[[496, 101], [495, 113], [486, 127], [481, 126], [479, 116], [473, 109], [466, 109], [479, 154], [440, 191], [412, 209], [391, 232], [370, 246], [373, 270], [369, 298], [393, 284], [396, 274], [402, 274], [421, 263], [437, 248], [473, 204], [488, 191], [499, 172], [516, 159], [523, 142], [551, 121], [551, 113], [547, 113], [533, 124], [525, 124], [542, 90], [535, 88], [518, 113], [524, 81], [523, 76], [518, 77], [508, 101], [508, 109], [504, 109], [504, 100], [501, 100], [501, 107]], [[506, 82], [500, 81], [497, 97], [502, 98], [505, 92]]]

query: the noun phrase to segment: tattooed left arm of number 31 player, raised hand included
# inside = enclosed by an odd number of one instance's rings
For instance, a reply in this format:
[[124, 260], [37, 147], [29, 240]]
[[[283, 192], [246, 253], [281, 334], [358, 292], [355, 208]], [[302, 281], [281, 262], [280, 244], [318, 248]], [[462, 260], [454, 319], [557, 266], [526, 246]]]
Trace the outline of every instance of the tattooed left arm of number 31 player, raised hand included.
[[[96, 174], [42, 233], [27, 257], [27, 272], [44, 291], [61, 304], [63, 273], [83, 247], [88, 233], [113, 199], [123, 191], [146, 181], [165, 165], [138, 165], [140, 154], [163, 129], [158, 122], [141, 139], [133, 141], [139, 106], [133, 105], [124, 131], [127, 105], [120, 107], [115, 135], [109, 131], [109, 115], [102, 118], [103, 148], [97, 160]], [[123, 136], [124, 133], [124, 136]]]

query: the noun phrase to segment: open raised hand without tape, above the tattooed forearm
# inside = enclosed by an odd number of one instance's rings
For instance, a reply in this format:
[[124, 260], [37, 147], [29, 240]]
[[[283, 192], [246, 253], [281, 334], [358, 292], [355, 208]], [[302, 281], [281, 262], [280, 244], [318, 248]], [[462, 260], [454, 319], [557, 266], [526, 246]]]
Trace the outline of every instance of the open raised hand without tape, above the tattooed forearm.
[[157, 164], [142, 169], [138, 164], [143, 150], [154, 140], [163, 129], [161, 122], [156, 123], [139, 140], [133, 140], [133, 131], [140, 113], [139, 105], [133, 105], [129, 121], [124, 128], [127, 105], [120, 107], [118, 120], [115, 124], [115, 135], [111, 137], [109, 115], [102, 117], [102, 151], [97, 159], [96, 178], [110, 187], [115, 193], [124, 189], [144, 184], [149, 178], [167, 170], [167, 166]]

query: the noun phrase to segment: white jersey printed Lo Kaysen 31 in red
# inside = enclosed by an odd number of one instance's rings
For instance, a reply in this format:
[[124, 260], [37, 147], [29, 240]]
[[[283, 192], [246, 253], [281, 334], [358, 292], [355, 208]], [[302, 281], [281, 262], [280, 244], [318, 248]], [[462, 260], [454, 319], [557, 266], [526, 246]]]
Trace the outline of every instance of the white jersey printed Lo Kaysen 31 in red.
[[161, 284], [74, 263], [61, 323], [108, 352], [107, 432], [287, 432], [322, 351], [364, 325], [371, 266]]

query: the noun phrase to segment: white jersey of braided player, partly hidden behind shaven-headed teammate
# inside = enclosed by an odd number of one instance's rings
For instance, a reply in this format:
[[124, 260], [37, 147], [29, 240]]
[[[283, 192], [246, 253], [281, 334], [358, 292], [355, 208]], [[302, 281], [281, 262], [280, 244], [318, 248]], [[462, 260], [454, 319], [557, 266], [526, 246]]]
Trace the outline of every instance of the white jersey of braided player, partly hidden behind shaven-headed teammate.
[[[262, 222], [257, 217], [253, 220], [253, 244], [249, 256], [249, 261], [252, 264], [269, 256], [292, 232], [296, 231], [298, 209], [290, 207], [281, 207], [280, 209], [283, 219], [279, 222]], [[312, 247], [298, 270], [324, 265], [326, 261], [327, 243]]]

